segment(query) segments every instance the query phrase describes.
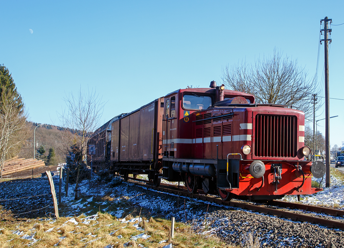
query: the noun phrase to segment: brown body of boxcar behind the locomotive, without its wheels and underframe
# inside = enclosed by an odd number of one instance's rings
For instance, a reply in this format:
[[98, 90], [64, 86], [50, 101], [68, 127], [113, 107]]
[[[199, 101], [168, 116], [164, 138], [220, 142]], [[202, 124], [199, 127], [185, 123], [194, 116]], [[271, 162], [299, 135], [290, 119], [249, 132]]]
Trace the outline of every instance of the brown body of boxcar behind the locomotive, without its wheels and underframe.
[[110, 160], [136, 164], [161, 158], [162, 112], [159, 98], [112, 123]]

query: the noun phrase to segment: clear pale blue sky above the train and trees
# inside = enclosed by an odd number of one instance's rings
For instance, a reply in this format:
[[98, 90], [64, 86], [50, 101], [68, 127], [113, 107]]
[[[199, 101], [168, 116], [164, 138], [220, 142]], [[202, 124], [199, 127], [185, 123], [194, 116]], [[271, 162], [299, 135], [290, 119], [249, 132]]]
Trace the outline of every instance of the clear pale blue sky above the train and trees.
[[[274, 47], [312, 76], [320, 19], [344, 23], [343, 7], [343, 1], [327, 1], [326, 8], [323, 1], [1, 1], [0, 63], [31, 121], [58, 125], [65, 94], [93, 87], [107, 101], [105, 122], [187, 85], [221, 82], [225, 65], [252, 63]], [[332, 26], [331, 38], [330, 97], [344, 99], [344, 25]], [[324, 45], [319, 78], [323, 58]], [[339, 115], [331, 119], [331, 145], [344, 141], [343, 105], [330, 101], [330, 116]], [[324, 121], [318, 123], [325, 133]]]

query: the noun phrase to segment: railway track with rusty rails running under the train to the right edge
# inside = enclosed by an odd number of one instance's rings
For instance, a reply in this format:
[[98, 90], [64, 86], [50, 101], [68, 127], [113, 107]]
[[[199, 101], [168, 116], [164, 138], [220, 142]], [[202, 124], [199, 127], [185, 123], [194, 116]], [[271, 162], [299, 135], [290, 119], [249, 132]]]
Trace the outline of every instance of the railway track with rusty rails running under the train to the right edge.
[[[129, 178], [131, 183], [140, 185], [149, 189], [154, 189], [162, 192], [167, 192], [180, 196], [187, 196], [193, 199], [202, 201], [213, 202], [219, 205], [237, 207], [252, 212], [264, 213], [269, 215], [278, 216], [281, 218], [291, 219], [292, 221], [308, 222], [312, 224], [319, 224], [329, 228], [344, 230], [344, 216], [343, 210], [337, 210], [326, 207], [310, 206], [299, 203], [290, 203], [283, 201], [272, 201], [271, 205], [258, 204], [244, 201], [223, 201], [222, 199], [201, 194], [191, 194], [187, 191], [186, 187], [182, 185], [172, 185], [160, 183], [159, 187], [155, 187], [152, 182], [143, 179]], [[300, 211], [302, 210], [302, 211]]]

